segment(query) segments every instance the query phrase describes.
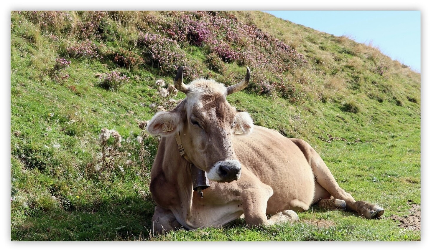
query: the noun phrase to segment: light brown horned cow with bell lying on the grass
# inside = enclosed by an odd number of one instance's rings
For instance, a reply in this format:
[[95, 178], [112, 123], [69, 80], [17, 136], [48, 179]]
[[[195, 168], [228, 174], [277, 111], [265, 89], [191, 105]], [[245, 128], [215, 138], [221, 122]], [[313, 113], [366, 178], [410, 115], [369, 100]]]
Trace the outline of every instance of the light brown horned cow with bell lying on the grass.
[[221, 227], [240, 217], [247, 227], [293, 223], [313, 204], [379, 218], [384, 209], [340, 188], [308, 143], [253, 125], [228, 103], [226, 96], [249, 81], [247, 67], [245, 78], [228, 87], [204, 78], [186, 85], [178, 68], [174, 84], [186, 98], [157, 112], [146, 128], [161, 136], [150, 172], [152, 232]]

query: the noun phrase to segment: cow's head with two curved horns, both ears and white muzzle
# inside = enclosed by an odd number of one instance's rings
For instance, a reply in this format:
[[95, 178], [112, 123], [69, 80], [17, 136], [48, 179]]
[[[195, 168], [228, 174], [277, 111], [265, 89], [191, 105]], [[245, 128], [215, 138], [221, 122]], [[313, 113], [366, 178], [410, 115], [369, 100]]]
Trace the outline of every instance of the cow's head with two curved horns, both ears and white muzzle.
[[241, 164], [235, 156], [232, 136], [249, 134], [253, 120], [247, 112], [237, 112], [226, 96], [247, 86], [250, 69], [247, 67], [241, 82], [229, 87], [203, 78], [185, 85], [182, 79], [183, 68], [180, 67], [174, 83], [187, 97], [175, 109], [156, 113], [147, 131], [162, 137], [179, 132], [185, 154], [194, 165], [207, 172], [210, 180], [237, 180]]

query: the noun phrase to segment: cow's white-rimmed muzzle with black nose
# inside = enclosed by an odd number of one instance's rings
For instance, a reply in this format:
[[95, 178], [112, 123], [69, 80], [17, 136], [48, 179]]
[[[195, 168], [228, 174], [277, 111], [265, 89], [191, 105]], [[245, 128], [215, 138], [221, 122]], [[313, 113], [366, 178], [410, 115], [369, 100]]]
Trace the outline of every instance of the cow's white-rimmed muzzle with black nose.
[[209, 170], [209, 180], [217, 182], [231, 182], [238, 180], [241, 175], [241, 164], [238, 160], [226, 160], [215, 163]]

